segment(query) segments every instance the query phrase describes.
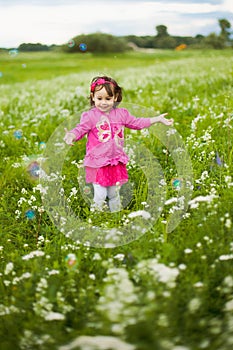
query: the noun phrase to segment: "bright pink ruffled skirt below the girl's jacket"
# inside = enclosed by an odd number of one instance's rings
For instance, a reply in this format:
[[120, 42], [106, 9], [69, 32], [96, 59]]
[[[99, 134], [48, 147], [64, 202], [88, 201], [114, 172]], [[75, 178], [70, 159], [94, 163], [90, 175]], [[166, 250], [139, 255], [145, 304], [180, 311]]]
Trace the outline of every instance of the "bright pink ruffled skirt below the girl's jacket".
[[101, 168], [86, 167], [86, 182], [94, 183], [104, 187], [123, 185], [128, 181], [126, 165], [106, 165]]

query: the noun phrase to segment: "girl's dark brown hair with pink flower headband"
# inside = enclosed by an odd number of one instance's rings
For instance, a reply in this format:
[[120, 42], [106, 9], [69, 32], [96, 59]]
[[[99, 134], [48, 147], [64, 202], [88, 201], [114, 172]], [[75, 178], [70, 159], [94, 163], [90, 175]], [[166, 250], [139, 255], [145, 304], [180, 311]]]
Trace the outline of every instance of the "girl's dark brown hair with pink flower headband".
[[122, 101], [122, 88], [118, 85], [116, 80], [106, 75], [97, 76], [91, 81], [91, 92], [89, 97], [91, 106], [94, 106], [94, 101], [92, 100], [93, 94], [96, 90], [101, 90], [103, 87], [105, 87], [109, 96], [117, 96], [117, 100], [115, 102], [116, 107]]

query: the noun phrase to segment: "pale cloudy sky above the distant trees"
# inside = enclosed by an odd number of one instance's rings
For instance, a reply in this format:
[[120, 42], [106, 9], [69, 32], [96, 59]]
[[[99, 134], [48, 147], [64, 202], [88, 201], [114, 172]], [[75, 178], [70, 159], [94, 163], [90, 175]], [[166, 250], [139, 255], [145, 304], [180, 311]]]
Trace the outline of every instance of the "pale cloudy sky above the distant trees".
[[233, 29], [232, 0], [0, 0], [0, 47], [64, 44], [79, 34], [170, 35], [219, 33], [218, 19]]

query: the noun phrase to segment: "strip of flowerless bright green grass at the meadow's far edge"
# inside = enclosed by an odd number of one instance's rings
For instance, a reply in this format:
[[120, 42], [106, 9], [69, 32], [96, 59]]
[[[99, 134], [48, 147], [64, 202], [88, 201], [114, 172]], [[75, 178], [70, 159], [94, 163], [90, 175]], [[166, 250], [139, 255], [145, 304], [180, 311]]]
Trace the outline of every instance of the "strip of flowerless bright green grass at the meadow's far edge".
[[[219, 56], [221, 52], [212, 52]], [[226, 58], [231, 51], [226, 51]], [[58, 76], [81, 73], [83, 71], [99, 71], [105, 73], [109, 70], [127, 67], [149, 66], [169, 60], [179, 60], [184, 57], [205, 57], [209, 51], [176, 52], [170, 50], [156, 50], [155, 53], [120, 53], [94, 55], [90, 53], [64, 54], [60, 52], [21, 53], [10, 56], [8, 52], [0, 53], [0, 71], [3, 76], [0, 84], [11, 84], [27, 80], [53, 79]]]

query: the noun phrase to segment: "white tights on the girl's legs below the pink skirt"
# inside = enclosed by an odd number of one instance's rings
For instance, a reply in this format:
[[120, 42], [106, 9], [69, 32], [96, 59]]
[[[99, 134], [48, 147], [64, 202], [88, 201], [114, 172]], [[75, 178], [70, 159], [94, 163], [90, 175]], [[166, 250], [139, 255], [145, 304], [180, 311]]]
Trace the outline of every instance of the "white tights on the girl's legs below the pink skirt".
[[108, 186], [103, 187], [98, 184], [93, 184], [94, 187], [94, 208], [102, 210], [104, 202], [108, 197], [108, 205], [111, 212], [119, 211], [121, 209], [120, 203], [120, 187]]

